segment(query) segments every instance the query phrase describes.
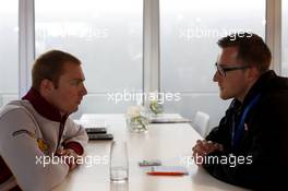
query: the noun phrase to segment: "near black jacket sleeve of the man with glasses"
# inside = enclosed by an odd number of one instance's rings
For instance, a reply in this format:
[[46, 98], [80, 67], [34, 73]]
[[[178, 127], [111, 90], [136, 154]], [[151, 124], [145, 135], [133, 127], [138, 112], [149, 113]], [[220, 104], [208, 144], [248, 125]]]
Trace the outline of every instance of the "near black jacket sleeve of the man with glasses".
[[261, 105], [248, 119], [250, 122], [247, 123], [248, 133], [247, 140], [242, 142], [242, 152], [237, 155], [230, 155], [229, 152], [211, 153], [207, 157], [215, 157], [219, 163], [206, 163], [203, 167], [220, 180], [250, 189], [262, 190], [284, 184], [286, 181], [281, 175], [287, 175], [288, 169], [288, 152], [285, 148], [287, 103], [280, 102], [278, 97]]

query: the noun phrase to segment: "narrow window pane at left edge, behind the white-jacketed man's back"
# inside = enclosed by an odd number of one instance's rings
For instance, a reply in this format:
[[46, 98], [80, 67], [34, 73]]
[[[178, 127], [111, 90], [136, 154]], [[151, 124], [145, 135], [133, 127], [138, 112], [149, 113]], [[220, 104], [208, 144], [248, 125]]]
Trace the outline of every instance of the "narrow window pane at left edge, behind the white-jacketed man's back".
[[19, 4], [0, 0], [0, 106], [19, 94]]

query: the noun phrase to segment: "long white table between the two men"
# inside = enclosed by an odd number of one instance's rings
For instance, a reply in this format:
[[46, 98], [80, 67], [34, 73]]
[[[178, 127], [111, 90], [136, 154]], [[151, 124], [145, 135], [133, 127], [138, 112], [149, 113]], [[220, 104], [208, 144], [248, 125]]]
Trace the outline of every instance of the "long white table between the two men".
[[[115, 141], [127, 141], [129, 153], [129, 182], [110, 183], [109, 141], [93, 141], [86, 147], [86, 156], [98, 157], [92, 167], [85, 165], [73, 170], [55, 190], [129, 190], [129, 191], [193, 191], [193, 190], [244, 190], [230, 186], [209, 176], [204, 169], [191, 162], [191, 147], [201, 136], [188, 123], [149, 124], [146, 133], [132, 133], [125, 127], [123, 115], [88, 115], [84, 120], [91, 123], [106, 120], [108, 132], [115, 135]], [[142, 159], [160, 159], [163, 165], [185, 166], [190, 171], [183, 177], [147, 176], [145, 169], [139, 167]]]

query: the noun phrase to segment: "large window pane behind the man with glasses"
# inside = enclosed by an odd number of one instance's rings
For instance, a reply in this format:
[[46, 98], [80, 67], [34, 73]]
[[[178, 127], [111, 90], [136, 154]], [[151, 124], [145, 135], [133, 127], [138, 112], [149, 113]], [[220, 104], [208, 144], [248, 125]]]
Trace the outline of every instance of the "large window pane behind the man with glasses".
[[238, 31], [265, 37], [265, 0], [160, 0], [160, 89], [182, 96], [166, 110], [191, 118], [200, 109], [218, 123], [227, 103], [212, 81], [216, 41]]

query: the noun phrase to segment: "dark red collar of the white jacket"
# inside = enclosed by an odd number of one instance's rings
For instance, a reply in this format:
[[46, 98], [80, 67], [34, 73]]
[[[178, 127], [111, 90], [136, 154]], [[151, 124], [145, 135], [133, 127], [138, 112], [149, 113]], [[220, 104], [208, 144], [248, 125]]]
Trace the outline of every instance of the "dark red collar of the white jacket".
[[22, 99], [28, 100], [38, 114], [43, 117], [57, 121], [64, 122], [69, 115], [61, 116], [60, 110], [49, 104], [35, 88], [31, 88], [28, 93], [22, 97]]

